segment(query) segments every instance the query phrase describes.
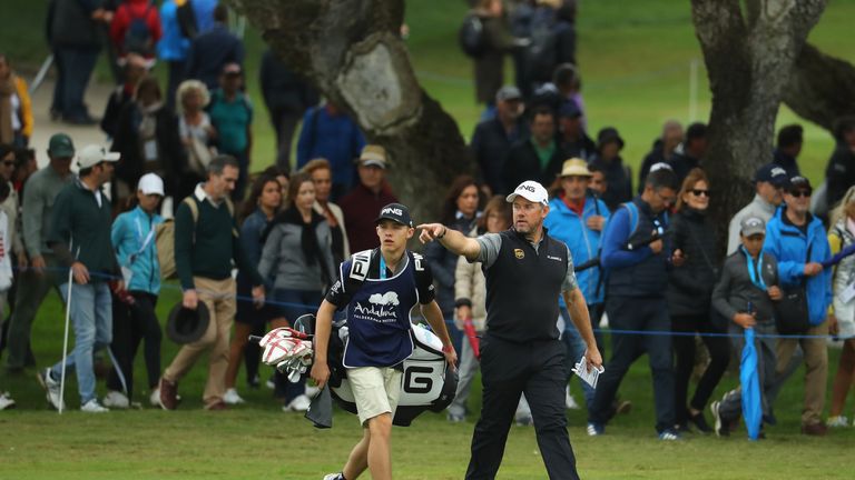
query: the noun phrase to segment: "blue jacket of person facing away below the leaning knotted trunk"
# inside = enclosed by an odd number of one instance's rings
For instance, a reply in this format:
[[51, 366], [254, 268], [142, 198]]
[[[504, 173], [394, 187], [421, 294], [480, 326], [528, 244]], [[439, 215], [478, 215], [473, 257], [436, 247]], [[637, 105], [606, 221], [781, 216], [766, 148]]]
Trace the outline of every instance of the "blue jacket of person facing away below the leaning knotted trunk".
[[331, 117], [325, 106], [306, 110], [297, 140], [297, 168], [309, 160], [325, 158], [333, 167], [333, 183], [348, 191], [354, 186], [353, 161], [365, 147], [365, 137], [347, 113]]

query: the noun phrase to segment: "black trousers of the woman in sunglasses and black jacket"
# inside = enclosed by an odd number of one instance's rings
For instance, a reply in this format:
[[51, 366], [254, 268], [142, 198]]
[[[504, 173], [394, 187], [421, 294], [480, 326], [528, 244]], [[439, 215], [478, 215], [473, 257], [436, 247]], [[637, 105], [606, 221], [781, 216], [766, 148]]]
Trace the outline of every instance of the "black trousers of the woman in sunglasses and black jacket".
[[[723, 333], [714, 329], [708, 314], [701, 316], [674, 316], [671, 317], [671, 330], [680, 333]], [[727, 337], [701, 336], [700, 339], [709, 350], [709, 366], [695, 389], [689, 407], [695, 410], [704, 410], [712, 391], [721, 380], [730, 362], [730, 342]], [[674, 368], [674, 404], [677, 408], [677, 423], [686, 423], [688, 418], [687, 399], [689, 392], [689, 379], [695, 370], [695, 336], [679, 334], [672, 339], [674, 353], [677, 358]]]

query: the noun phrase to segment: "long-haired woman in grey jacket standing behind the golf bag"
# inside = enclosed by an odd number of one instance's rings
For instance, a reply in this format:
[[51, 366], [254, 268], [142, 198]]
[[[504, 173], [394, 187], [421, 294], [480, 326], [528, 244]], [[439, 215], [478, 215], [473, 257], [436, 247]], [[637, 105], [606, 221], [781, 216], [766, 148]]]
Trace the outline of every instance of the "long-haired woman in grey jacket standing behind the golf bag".
[[[336, 278], [332, 256], [332, 233], [324, 217], [314, 211], [315, 183], [305, 173], [291, 178], [289, 204], [267, 228], [258, 272], [275, 277], [273, 301], [278, 310], [274, 326], [293, 323], [313, 313], [323, 292]], [[305, 411], [309, 399], [303, 382], [292, 383], [276, 372], [277, 397], [284, 398], [284, 411]]]

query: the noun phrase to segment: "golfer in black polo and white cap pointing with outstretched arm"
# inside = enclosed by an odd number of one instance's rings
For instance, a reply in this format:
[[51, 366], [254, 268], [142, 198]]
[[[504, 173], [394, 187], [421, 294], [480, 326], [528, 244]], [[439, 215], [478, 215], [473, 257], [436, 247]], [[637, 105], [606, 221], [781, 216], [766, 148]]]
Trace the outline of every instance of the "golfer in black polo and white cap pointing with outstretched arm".
[[469, 238], [440, 223], [420, 224], [422, 242], [436, 240], [469, 261], [483, 263], [487, 277], [487, 334], [481, 340], [483, 408], [472, 436], [466, 479], [492, 479], [502, 461], [521, 393], [531, 406], [538, 446], [550, 479], [578, 479], [564, 417], [564, 347], [559, 341], [558, 296], [588, 346], [588, 366], [602, 364], [577, 288], [567, 246], [543, 228], [547, 190], [525, 181], [508, 196], [513, 227]]

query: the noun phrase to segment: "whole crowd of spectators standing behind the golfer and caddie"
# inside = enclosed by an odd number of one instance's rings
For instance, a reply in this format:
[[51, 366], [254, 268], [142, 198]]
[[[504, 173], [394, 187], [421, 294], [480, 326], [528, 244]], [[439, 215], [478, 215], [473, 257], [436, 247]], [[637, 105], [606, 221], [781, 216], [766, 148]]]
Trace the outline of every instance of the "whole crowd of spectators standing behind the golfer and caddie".
[[[855, 382], [855, 119], [838, 122], [822, 201], [813, 201], [819, 189], [799, 170], [802, 127], [786, 126], [754, 174], [754, 199], [719, 224], [708, 210], [724, 186], [705, 172], [714, 160], [704, 123], [665, 122], [637, 176], [621, 157], [626, 142], [616, 127], [589, 133], [574, 1], [471, 3], [466, 22], [483, 26], [479, 48], [463, 46], [484, 104], [469, 146], [476, 171], [452, 182], [441, 220], [468, 236], [507, 230], [512, 212], [504, 196], [527, 180], [549, 189], [544, 226], [569, 247], [608, 359], [597, 389], [581, 386], [583, 401], [567, 388], [567, 407], [588, 410], [588, 434], [605, 434], [629, 410], [621, 380], [645, 353], [660, 439], [692, 430], [729, 434], [741, 391], [712, 397], [731, 357], [745, 348], [747, 329], [758, 336], [764, 424], [775, 424], [776, 398], [804, 363], [802, 432], [823, 436], [829, 427], [852, 426], [844, 409]], [[110, 147], [76, 146], [57, 132], [48, 164], [37, 169], [28, 149], [33, 120], [27, 86], [0, 54], [0, 306], [11, 311], [0, 343], [6, 369], [42, 363], [32, 354], [31, 331], [55, 289], [70, 303], [75, 341], [67, 361], [38, 369], [53, 408], [65, 408], [59, 388], [66, 372], [77, 376], [83, 411], [128, 408], [141, 344], [153, 406], [178, 408], [181, 379], [207, 353], [206, 409], [245, 402], [237, 382], [245, 364], [247, 388], [269, 383], [283, 410], [305, 411], [314, 388], [281, 373], [263, 378], [261, 352], [247, 337], [313, 312], [338, 266], [377, 248], [374, 219], [399, 201], [386, 179], [393, 159], [368, 143], [345, 109], [322, 102], [268, 51], [259, 82], [277, 147], [269, 152], [274, 166], [253, 176], [257, 112], [245, 93], [243, 42], [227, 28], [225, 6], [50, 4], [53, 119], [96, 123], [82, 98], [104, 36], [116, 80], [100, 121]], [[468, 23], [461, 42], [471, 43], [463, 40]], [[514, 84], [502, 77], [505, 58], [513, 61]], [[166, 86], [150, 74], [156, 62], [168, 71]], [[164, 206], [168, 198], [171, 208]], [[438, 243], [425, 248], [424, 260], [443, 317], [455, 327], [460, 383], [448, 419], [460, 422], [479, 368], [476, 343], [463, 332], [489, 329], [484, 276]], [[164, 366], [156, 307], [168, 278], [177, 278], [183, 292], [169, 323], [181, 309], [191, 310], [187, 326], [196, 332], [167, 328], [183, 346]], [[584, 343], [568, 306], [556, 301], [570, 373]], [[609, 344], [603, 319], [612, 330]], [[827, 336], [844, 347], [826, 411]], [[112, 364], [100, 398], [94, 358]], [[12, 406], [9, 393], [0, 396], [0, 409]], [[531, 424], [524, 397], [515, 419]]]

